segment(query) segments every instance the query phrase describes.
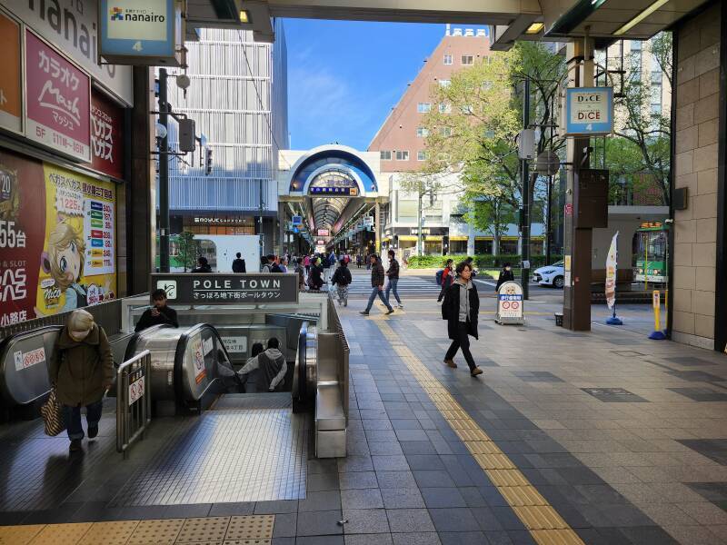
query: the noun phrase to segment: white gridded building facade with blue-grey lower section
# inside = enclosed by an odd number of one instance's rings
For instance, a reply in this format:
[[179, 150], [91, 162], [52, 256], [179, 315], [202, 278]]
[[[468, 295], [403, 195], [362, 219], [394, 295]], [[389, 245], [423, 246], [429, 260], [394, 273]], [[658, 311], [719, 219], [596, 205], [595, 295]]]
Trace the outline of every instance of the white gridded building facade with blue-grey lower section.
[[[277, 212], [278, 150], [288, 146], [287, 51], [283, 24], [275, 22], [275, 43], [257, 44], [243, 30], [201, 29], [199, 42], [186, 43], [186, 91], [174, 77], [169, 102], [194, 119], [213, 150], [213, 169], [204, 175], [199, 152], [170, 157], [169, 201], [173, 211]], [[170, 71], [170, 74], [174, 74]], [[170, 149], [177, 149], [170, 118]], [[199, 148], [198, 148], [199, 149]]]

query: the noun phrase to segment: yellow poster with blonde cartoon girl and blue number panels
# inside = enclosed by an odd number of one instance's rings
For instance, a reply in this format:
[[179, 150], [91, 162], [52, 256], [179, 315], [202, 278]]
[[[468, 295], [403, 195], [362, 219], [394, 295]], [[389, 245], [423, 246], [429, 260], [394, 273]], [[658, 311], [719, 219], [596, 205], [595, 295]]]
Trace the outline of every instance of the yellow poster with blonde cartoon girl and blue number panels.
[[44, 163], [45, 233], [35, 312], [115, 298], [115, 186]]

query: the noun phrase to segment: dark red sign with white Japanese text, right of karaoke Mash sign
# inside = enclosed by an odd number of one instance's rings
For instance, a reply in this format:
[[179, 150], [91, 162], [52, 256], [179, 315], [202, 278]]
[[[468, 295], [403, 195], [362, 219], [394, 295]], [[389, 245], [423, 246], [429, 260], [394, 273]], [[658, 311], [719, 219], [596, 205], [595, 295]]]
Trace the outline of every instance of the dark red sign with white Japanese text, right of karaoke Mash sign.
[[124, 110], [100, 91], [91, 90], [91, 166], [124, 177]]

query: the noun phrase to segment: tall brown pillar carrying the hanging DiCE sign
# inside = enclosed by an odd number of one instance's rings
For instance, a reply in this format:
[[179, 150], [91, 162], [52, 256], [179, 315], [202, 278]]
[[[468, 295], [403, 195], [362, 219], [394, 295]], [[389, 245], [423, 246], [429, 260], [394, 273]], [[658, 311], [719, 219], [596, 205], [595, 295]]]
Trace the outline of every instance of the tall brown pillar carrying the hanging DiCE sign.
[[[579, 40], [567, 45], [568, 86], [593, 86], [593, 40]], [[568, 138], [566, 161], [569, 164], [565, 191], [565, 241], [563, 247], [566, 265], [563, 287], [563, 327], [573, 331], [591, 330], [591, 229], [577, 229], [573, 218], [578, 198], [578, 172], [587, 168], [583, 163], [588, 138]], [[570, 259], [569, 259], [570, 258]], [[567, 265], [570, 262], [570, 274]]]

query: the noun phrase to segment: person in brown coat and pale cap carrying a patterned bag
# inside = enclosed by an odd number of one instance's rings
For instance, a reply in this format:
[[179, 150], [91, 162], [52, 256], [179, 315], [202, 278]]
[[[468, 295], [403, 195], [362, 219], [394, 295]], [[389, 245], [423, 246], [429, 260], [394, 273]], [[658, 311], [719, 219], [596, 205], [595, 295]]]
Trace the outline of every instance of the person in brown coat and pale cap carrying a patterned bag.
[[104, 328], [90, 312], [77, 309], [58, 335], [48, 369], [57, 400], [63, 405], [70, 451], [84, 439], [81, 407], [86, 410], [88, 439], [98, 435], [104, 394], [114, 383], [114, 358]]

